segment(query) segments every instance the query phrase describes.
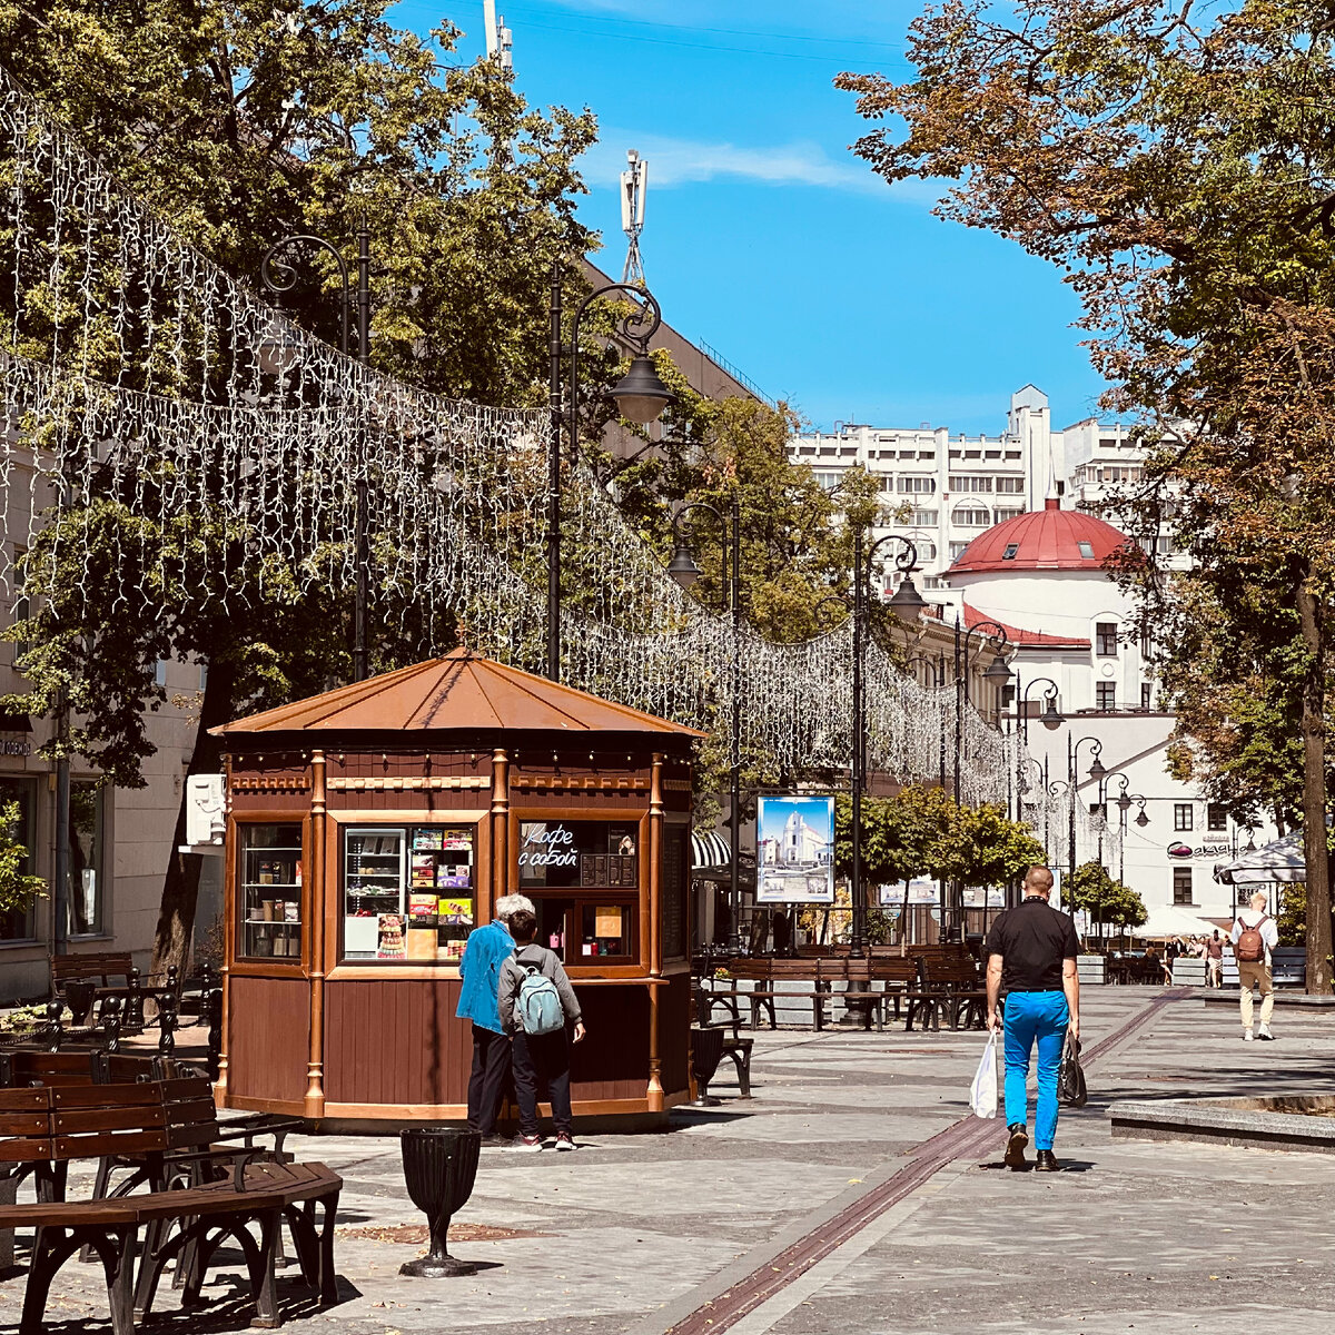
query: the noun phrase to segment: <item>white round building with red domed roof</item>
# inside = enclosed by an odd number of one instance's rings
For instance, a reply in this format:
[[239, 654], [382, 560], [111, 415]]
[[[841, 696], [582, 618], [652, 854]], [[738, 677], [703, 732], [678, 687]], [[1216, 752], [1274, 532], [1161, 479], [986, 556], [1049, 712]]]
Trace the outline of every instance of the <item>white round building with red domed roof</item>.
[[[1109, 870], [1141, 896], [1151, 924], [1156, 909], [1171, 905], [1224, 921], [1235, 892], [1215, 881], [1215, 866], [1274, 832], [1238, 829], [1222, 806], [1168, 773], [1173, 717], [1159, 709], [1152, 646], [1127, 638], [1128, 595], [1103, 570], [1125, 541], [1053, 498], [976, 538], [945, 579], [965, 625], [996, 622], [1015, 646], [1009, 726], [1020, 728], [1036, 761], [1020, 786], [1032, 792], [1039, 772], [1049, 786], [1073, 777], [1085, 810], [1103, 808], [1123, 830]], [[1049, 697], [1061, 716], [1051, 728], [1041, 721]], [[1103, 773], [1091, 776], [1096, 757]], [[1065, 845], [1064, 832], [1037, 833], [1049, 849]], [[1076, 862], [1099, 852], [1097, 838], [1085, 840]]]

